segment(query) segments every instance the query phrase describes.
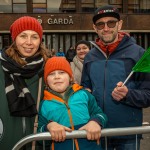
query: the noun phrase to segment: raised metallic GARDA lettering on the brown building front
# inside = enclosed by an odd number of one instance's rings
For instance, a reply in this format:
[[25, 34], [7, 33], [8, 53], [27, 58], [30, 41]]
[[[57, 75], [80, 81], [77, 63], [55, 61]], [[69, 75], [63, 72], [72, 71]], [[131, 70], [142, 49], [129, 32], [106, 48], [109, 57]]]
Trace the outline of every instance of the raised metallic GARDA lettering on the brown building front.
[[52, 24], [73, 24], [73, 19], [72, 18], [48, 18], [47, 23], [52, 25]]

